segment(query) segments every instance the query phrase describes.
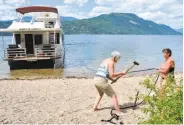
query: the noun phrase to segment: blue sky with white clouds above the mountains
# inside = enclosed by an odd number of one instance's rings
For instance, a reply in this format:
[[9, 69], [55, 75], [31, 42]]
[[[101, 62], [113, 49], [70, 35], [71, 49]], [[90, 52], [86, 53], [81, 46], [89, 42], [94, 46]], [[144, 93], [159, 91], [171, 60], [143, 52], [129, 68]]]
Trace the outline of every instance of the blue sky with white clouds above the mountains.
[[183, 27], [183, 0], [0, 0], [0, 20], [15, 19], [16, 8], [30, 5], [56, 7], [61, 16], [79, 19], [112, 12], [134, 13], [174, 29]]

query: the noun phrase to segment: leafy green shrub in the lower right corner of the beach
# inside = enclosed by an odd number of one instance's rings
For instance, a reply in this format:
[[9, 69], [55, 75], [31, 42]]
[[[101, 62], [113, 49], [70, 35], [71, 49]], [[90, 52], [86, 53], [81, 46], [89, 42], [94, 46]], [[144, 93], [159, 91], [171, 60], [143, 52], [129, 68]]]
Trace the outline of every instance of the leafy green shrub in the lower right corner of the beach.
[[[141, 84], [154, 93], [151, 96], [142, 95], [146, 106], [143, 112], [150, 117], [141, 124], [182, 124], [183, 122], [183, 78], [176, 84], [172, 77], [167, 77], [162, 89], [154, 86], [152, 79], [146, 79]], [[160, 83], [157, 83], [160, 84]]]

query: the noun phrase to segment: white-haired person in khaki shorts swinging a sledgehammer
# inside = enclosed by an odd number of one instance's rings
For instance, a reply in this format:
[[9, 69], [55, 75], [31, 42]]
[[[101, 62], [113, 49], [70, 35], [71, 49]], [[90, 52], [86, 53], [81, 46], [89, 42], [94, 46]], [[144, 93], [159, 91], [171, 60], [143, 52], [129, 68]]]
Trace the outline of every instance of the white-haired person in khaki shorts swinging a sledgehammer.
[[[97, 70], [97, 73], [94, 77], [94, 84], [95, 84], [95, 87], [96, 87], [99, 95], [97, 96], [97, 99], [95, 101], [93, 111], [99, 110], [98, 105], [99, 105], [99, 103], [100, 103], [100, 101], [105, 93], [107, 96], [112, 98], [116, 114], [118, 116], [123, 115], [123, 113], [121, 113], [120, 108], [119, 108], [116, 93], [113, 90], [113, 88], [111, 87], [111, 85], [108, 83], [109, 77], [111, 79], [117, 78], [117, 77], [120, 78], [121, 76], [126, 75], [126, 73], [129, 71], [129, 70], [127, 70], [126, 72], [115, 72], [114, 71], [115, 64], [119, 61], [119, 59], [120, 59], [120, 53], [117, 51], [114, 51], [111, 53], [111, 58], [105, 59], [101, 63], [100, 68]], [[134, 63], [134, 65], [138, 65], [138, 63]]]

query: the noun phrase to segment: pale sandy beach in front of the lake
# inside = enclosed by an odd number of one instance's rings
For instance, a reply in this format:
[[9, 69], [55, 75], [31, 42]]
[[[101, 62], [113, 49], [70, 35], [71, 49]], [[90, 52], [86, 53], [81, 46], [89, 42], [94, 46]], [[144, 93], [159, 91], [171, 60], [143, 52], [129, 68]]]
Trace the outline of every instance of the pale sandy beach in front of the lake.
[[[146, 93], [139, 83], [148, 76], [122, 78], [113, 84], [121, 106], [133, 103], [136, 90]], [[182, 74], [177, 74], [179, 79]], [[112, 100], [106, 95], [100, 111], [92, 112], [97, 90], [93, 79], [59, 78], [38, 80], [0, 81], [0, 123], [80, 123], [101, 124], [101, 119], [110, 118]], [[122, 110], [125, 116], [120, 121], [135, 124], [141, 118], [144, 105], [136, 110]]]

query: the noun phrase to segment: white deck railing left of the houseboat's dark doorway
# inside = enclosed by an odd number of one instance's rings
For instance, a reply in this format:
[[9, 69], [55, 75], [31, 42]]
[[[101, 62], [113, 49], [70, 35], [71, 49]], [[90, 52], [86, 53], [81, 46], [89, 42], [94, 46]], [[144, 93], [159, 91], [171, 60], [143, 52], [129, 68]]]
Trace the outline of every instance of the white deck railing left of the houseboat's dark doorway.
[[4, 50], [4, 59], [26, 58], [26, 48], [7, 48]]

